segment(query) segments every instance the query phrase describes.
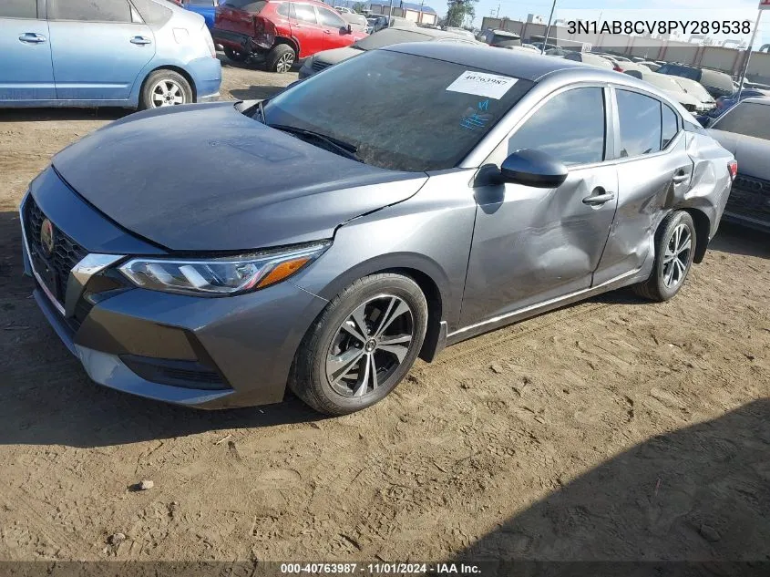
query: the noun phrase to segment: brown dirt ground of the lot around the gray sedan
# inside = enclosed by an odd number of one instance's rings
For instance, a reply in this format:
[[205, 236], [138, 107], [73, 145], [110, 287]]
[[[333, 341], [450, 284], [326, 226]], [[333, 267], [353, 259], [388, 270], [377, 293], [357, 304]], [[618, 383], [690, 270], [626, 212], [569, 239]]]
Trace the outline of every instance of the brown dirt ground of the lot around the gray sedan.
[[349, 417], [170, 407], [90, 382], [21, 275], [27, 183], [124, 114], [0, 111], [0, 560], [770, 560], [768, 237], [723, 226], [671, 302], [483, 335]]

